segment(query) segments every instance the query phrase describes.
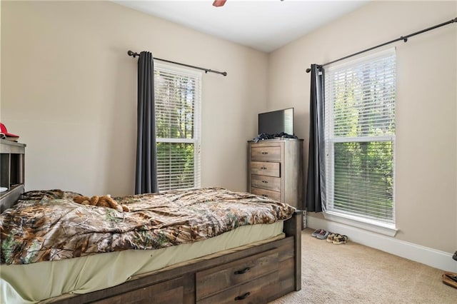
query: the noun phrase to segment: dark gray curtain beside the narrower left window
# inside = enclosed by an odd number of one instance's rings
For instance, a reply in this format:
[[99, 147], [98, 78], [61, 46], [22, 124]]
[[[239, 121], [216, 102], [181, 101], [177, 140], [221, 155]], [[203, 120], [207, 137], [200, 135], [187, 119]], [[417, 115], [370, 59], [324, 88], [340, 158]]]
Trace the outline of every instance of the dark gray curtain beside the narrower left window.
[[142, 51], [138, 61], [138, 120], [135, 194], [159, 192], [157, 185], [154, 61]]

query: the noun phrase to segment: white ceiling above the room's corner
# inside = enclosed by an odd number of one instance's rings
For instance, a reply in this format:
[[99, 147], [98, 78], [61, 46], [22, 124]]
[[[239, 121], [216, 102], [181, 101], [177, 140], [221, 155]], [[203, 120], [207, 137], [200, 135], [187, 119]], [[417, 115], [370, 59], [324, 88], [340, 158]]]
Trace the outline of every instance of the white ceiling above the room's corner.
[[114, 0], [131, 9], [269, 53], [370, 0]]

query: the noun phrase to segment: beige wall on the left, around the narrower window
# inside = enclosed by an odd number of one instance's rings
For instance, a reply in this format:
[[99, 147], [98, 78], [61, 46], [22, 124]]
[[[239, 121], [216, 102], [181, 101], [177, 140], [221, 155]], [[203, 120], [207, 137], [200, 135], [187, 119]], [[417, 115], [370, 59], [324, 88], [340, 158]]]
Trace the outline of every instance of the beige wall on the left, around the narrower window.
[[129, 49], [227, 71], [203, 73], [202, 186], [246, 191], [266, 54], [108, 1], [1, 1], [0, 120], [27, 144], [26, 189], [134, 191]]

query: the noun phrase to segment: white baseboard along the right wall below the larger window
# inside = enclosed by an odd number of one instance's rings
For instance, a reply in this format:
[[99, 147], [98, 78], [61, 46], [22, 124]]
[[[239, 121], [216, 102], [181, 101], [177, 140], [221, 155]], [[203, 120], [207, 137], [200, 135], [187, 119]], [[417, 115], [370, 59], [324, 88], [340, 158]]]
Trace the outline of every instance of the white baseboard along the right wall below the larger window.
[[402, 258], [407, 258], [408, 260], [414, 260], [433, 268], [457, 273], [457, 261], [453, 260], [453, 253], [446, 253], [441, 250], [408, 243], [404, 240], [398, 240], [386, 235], [327, 221], [323, 218], [315, 218], [313, 216], [306, 217], [306, 226], [312, 229], [321, 228], [327, 231], [348, 235], [349, 239], [356, 243], [376, 248], [385, 251], [386, 253], [398, 255]]

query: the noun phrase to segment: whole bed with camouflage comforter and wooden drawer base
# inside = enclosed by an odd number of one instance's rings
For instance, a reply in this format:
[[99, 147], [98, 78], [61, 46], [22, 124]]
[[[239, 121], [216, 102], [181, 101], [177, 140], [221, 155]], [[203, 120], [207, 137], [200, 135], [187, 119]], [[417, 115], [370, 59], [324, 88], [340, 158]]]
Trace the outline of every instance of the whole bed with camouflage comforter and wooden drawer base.
[[268, 303], [301, 289], [301, 211], [287, 204], [212, 187], [116, 197], [120, 212], [78, 195], [29, 191], [1, 213], [2, 303]]

